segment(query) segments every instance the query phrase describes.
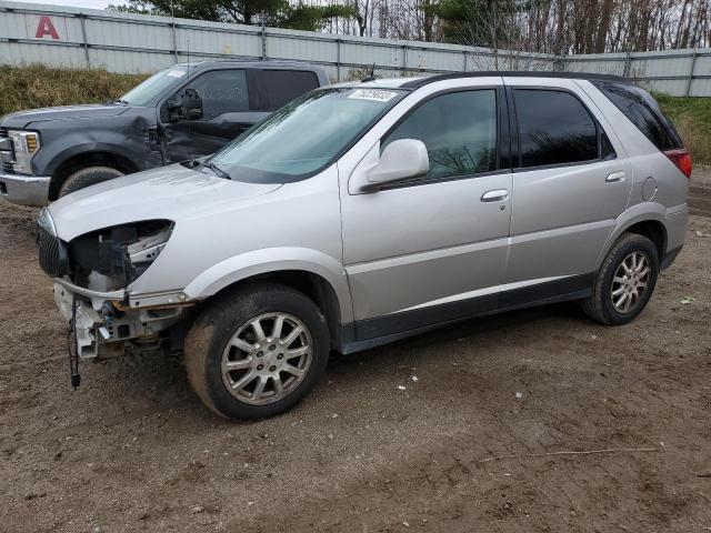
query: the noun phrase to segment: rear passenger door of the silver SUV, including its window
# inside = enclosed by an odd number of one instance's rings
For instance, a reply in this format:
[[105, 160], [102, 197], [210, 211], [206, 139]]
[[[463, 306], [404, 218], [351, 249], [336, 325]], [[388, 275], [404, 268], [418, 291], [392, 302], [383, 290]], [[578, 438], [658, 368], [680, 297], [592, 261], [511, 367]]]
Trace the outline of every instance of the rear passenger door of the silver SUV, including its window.
[[508, 306], [589, 286], [585, 274], [628, 204], [632, 175], [612, 129], [574, 81], [504, 82], [518, 127]]

